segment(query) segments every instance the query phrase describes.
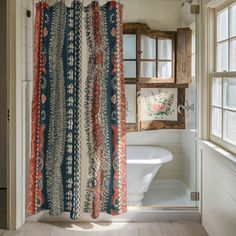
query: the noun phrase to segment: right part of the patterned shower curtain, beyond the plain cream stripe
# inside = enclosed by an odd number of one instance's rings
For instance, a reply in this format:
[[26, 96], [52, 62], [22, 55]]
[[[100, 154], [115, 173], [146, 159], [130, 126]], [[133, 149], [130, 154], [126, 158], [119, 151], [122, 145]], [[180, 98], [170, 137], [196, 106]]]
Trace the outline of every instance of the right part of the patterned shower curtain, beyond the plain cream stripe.
[[89, 46], [86, 121], [89, 181], [85, 211], [126, 211], [125, 95], [123, 71], [123, 6], [111, 1], [85, 8]]

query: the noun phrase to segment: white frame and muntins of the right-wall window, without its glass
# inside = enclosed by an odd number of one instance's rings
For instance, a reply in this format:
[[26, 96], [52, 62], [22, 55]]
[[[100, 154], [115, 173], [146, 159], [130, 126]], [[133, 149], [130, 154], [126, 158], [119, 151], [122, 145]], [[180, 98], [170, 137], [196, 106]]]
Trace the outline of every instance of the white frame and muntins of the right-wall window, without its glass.
[[[236, 70], [235, 71], [230, 71], [230, 41], [233, 39], [236, 39], [236, 35], [231, 37], [231, 29], [230, 29], [230, 21], [231, 21], [231, 16], [230, 16], [230, 8], [236, 5], [236, 1], [227, 1], [224, 4], [222, 4], [221, 6], [217, 7], [214, 9], [214, 14], [213, 14], [213, 32], [214, 32], [214, 52], [212, 53], [212, 62], [213, 62], [213, 72], [210, 73], [210, 83], [209, 83], [209, 130], [210, 130], [210, 141], [212, 141], [213, 143], [218, 144], [219, 146], [221, 146], [222, 148], [236, 154], [236, 144], [233, 144], [232, 142], [228, 141], [225, 139], [225, 115], [224, 115], [224, 111], [232, 111], [235, 112], [236, 114], [236, 110], [234, 109], [229, 109], [226, 108], [224, 106], [224, 80], [225, 79], [235, 79], [236, 80]], [[227, 39], [224, 40], [220, 40], [217, 41], [217, 15], [222, 12], [224, 9], [228, 8], [228, 37]], [[217, 72], [217, 45], [219, 43], [222, 42], [228, 42], [228, 70], [227, 71], [221, 71], [221, 72]], [[220, 78], [222, 81], [222, 87], [221, 87], [221, 94], [222, 94], [222, 99], [221, 99], [221, 106], [216, 106], [213, 105], [213, 99], [212, 99], [212, 95], [213, 95], [213, 79], [214, 78]], [[217, 135], [213, 134], [213, 122], [212, 122], [212, 118], [213, 118], [213, 108], [219, 108], [221, 109], [221, 137], [218, 137]]]

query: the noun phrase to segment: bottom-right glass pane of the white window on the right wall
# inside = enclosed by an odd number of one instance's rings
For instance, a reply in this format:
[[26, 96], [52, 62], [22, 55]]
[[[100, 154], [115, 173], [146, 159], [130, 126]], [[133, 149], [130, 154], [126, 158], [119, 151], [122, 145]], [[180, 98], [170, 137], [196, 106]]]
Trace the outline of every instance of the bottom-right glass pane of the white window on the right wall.
[[224, 139], [236, 144], [236, 112], [224, 111]]

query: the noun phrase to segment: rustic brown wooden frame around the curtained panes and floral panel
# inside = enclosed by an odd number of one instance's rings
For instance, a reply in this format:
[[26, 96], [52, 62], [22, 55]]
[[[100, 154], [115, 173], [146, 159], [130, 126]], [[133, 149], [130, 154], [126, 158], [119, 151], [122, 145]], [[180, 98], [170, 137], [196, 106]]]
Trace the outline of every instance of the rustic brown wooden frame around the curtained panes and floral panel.
[[[136, 85], [136, 123], [127, 123], [126, 131], [143, 131], [143, 130], [156, 130], [156, 129], [184, 129], [185, 128], [185, 113], [182, 111], [178, 113], [177, 121], [168, 120], [153, 120], [153, 121], [141, 121], [141, 89], [142, 88], [177, 88], [178, 90], [178, 104], [184, 105], [185, 103], [185, 88], [188, 84], [177, 84], [176, 83], [176, 32], [162, 32], [157, 30], [151, 30], [146, 24], [141, 23], [125, 23], [123, 25], [124, 34], [135, 34], [136, 35], [136, 78], [125, 78], [125, 84]], [[161, 39], [172, 39], [172, 78], [161, 79], [158, 78], [153, 80], [150, 78], [141, 78], [141, 35], [148, 37], [152, 36], [156, 38], [158, 44], [158, 38]], [[157, 46], [158, 53], [158, 46]], [[130, 61], [129, 59], [124, 61]], [[134, 61], [134, 60], [132, 60]], [[151, 61], [151, 60], [147, 60]], [[162, 61], [162, 60], [160, 60]], [[170, 61], [170, 60], [168, 60]], [[158, 56], [157, 61], [158, 63]], [[157, 65], [156, 75], [158, 75]]]

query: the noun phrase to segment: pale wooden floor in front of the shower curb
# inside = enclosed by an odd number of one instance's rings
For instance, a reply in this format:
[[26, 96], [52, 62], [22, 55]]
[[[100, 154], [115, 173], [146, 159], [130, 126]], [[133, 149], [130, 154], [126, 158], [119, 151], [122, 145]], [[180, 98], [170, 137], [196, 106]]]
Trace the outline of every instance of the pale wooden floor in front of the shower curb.
[[27, 223], [17, 232], [0, 236], [207, 236], [200, 223]]

